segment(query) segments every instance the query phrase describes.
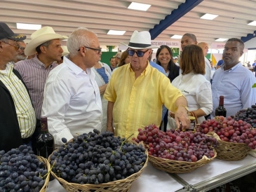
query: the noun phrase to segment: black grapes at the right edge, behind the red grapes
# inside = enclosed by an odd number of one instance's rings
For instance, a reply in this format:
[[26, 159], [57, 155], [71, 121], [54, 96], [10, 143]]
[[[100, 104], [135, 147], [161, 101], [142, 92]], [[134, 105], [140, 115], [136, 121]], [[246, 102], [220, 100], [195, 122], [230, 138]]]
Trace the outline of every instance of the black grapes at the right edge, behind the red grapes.
[[252, 125], [252, 128], [256, 128], [256, 104], [248, 109], [242, 109], [236, 113], [234, 117], [236, 121], [243, 120]]

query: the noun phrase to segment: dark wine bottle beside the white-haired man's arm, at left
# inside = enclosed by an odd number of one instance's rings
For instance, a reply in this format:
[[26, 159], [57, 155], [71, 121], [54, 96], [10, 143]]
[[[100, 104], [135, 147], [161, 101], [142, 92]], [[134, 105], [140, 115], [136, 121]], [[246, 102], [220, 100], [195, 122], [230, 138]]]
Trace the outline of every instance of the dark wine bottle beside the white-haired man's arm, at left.
[[48, 158], [55, 149], [53, 135], [48, 132], [47, 117], [41, 117], [41, 133], [36, 139], [37, 156]]

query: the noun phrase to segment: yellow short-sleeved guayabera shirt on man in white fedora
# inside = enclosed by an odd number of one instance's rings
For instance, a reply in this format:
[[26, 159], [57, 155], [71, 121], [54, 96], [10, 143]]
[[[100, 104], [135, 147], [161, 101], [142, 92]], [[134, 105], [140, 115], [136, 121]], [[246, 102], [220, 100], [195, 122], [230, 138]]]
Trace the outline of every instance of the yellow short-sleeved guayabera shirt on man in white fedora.
[[161, 123], [162, 105], [175, 111], [175, 101], [182, 93], [169, 78], [147, 64], [135, 79], [130, 64], [115, 69], [105, 91], [105, 99], [114, 102], [115, 135], [137, 137], [138, 128]]

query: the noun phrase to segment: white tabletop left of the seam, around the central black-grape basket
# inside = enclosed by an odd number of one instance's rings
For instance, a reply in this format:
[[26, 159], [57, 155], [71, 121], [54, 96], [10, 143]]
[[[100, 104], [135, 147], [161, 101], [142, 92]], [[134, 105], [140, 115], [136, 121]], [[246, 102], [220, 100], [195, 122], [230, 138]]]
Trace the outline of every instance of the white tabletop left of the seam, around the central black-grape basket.
[[[169, 174], [161, 170], [156, 170], [151, 163], [147, 163], [147, 167], [144, 168], [140, 177], [136, 181], [133, 181], [130, 192], [175, 192], [181, 188], [183, 186], [170, 177]], [[65, 192], [66, 190], [54, 179], [49, 182], [46, 191]]]

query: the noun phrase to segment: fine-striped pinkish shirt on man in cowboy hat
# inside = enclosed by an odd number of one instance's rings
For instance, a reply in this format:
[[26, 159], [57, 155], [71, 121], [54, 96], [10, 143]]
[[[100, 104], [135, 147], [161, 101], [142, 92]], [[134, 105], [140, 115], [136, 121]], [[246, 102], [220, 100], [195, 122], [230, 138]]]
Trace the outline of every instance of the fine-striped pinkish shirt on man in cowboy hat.
[[27, 85], [29, 94], [32, 99], [36, 118], [41, 118], [41, 109], [43, 105], [43, 90], [46, 84], [46, 78], [50, 71], [57, 67], [58, 64], [53, 62], [48, 68], [37, 58], [17, 62], [14, 69], [20, 72], [22, 80]]

